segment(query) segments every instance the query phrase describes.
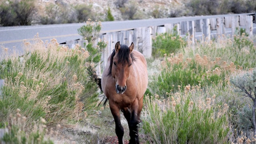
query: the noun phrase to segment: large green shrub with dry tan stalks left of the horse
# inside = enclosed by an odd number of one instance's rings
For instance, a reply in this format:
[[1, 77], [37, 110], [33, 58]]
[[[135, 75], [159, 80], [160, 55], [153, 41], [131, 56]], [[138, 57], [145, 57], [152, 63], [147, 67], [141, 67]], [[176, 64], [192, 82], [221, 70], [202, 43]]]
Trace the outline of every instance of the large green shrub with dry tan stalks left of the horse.
[[2, 87], [1, 121], [14, 114], [16, 108], [27, 116], [27, 126], [43, 117], [47, 125], [76, 123], [84, 115], [92, 114], [98, 100], [97, 86], [89, 80], [89, 52], [76, 46], [74, 50], [60, 47], [56, 39], [45, 49], [36, 38], [24, 43], [22, 58], [3, 60], [0, 78]]

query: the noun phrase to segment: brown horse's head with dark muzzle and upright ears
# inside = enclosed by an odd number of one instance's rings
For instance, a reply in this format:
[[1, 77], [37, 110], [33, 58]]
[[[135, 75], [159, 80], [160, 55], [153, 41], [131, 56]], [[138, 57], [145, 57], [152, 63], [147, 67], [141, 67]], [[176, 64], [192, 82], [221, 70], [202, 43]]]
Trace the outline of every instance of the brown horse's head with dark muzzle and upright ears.
[[113, 59], [111, 58], [110, 60], [110, 72], [116, 81], [116, 92], [118, 94], [123, 94], [127, 88], [126, 80], [129, 78], [132, 69], [132, 63], [134, 61], [132, 55], [133, 49], [133, 43], [130, 47], [128, 47], [126, 45], [120, 45], [120, 42], [117, 42], [115, 50], [112, 53]]

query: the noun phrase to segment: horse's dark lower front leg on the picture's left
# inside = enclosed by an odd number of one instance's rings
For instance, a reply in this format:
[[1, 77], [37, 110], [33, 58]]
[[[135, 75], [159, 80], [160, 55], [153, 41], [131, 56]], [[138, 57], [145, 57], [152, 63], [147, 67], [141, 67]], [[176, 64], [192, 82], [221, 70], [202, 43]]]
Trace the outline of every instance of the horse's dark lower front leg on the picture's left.
[[120, 109], [116, 104], [114, 104], [114, 102], [109, 102], [109, 107], [115, 120], [116, 136], [118, 137], [118, 143], [123, 144], [124, 128], [120, 121]]

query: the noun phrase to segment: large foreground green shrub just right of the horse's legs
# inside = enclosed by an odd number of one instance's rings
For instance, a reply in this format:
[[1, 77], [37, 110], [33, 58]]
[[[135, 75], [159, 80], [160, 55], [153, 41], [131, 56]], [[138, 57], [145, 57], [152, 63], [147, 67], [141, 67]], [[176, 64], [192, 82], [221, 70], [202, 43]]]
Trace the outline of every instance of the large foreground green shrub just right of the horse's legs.
[[172, 100], [146, 98], [142, 128], [155, 144], [228, 143], [229, 122], [225, 115], [217, 116], [215, 112], [220, 109], [214, 104], [200, 108], [191, 98], [190, 94]]

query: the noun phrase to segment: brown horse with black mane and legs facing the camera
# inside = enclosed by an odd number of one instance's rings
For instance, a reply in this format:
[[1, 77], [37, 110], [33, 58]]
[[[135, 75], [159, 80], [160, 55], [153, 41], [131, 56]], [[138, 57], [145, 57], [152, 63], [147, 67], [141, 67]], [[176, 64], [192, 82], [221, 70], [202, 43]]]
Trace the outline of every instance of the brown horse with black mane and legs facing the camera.
[[124, 128], [120, 122], [120, 110], [130, 129], [129, 144], [139, 144], [138, 124], [143, 106], [143, 96], [148, 86], [147, 62], [144, 56], [130, 47], [116, 43], [102, 74], [102, 90], [109, 100], [116, 124], [119, 144], [123, 143]]

